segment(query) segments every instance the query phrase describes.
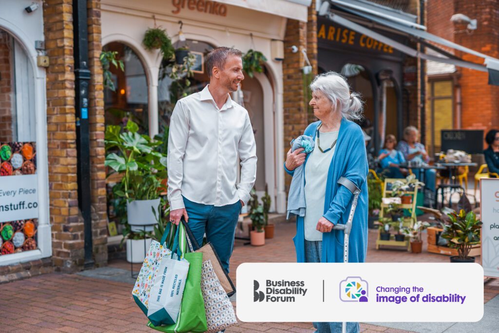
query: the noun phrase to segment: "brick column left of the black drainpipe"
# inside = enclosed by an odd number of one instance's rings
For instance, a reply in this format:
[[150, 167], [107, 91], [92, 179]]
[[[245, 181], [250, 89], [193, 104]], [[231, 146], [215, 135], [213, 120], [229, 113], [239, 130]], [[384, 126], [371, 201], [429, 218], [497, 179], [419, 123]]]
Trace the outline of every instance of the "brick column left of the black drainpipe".
[[47, 142], [52, 260], [56, 270], [83, 266], [83, 220], [78, 214], [71, 0], [43, 5], [47, 75]]

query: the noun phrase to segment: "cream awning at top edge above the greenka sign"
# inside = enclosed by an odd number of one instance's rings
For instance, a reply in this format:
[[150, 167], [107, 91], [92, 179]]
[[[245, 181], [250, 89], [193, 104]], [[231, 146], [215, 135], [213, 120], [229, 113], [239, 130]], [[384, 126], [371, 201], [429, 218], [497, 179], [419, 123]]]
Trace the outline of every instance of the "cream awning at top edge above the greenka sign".
[[215, 0], [269, 14], [306, 22], [312, 0]]

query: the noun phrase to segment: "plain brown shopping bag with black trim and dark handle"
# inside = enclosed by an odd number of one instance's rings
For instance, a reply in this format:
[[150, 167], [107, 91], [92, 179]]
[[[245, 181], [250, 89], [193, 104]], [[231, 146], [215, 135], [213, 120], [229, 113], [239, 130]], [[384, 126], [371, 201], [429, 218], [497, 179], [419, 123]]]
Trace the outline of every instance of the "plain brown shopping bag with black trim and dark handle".
[[181, 221], [185, 227], [188, 236], [187, 238], [188, 243], [192, 244], [192, 247], [194, 248], [195, 252], [203, 253], [203, 261], [211, 260], [215, 274], [219, 278], [220, 284], [227, 293], [227, 296], [231, 297], [232, 295], [234, 295], [236, 293], [236, 287], [234, 286], [234, 283], [229, 277], [229, 274], [222, 266], [222, 262], [220, 261], [220, 258], [217, 255], [217, 252], [215, 251], [213, 245], [211, 243], [208, 243], [205, 246], [200, 247], [198, 242], [196, 241], [196, 238], [194, 238], [194, 235], [191, 231], [191, 228], [189, 228], [188, 223], [186, 223], [184, 219], [182, 219]]

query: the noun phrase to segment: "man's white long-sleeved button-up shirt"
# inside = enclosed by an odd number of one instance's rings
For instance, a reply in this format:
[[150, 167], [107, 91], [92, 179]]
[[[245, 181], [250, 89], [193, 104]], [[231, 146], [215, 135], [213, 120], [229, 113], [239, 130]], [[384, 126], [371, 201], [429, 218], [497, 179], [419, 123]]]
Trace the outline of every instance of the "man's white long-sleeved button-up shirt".
[[[239, 158], [238, 158], [239, 155]], [[241, 181], [237, 181], [241, 159]], [[208, 90], [180, 99], [168, 136], [168, 201], [184, 208], [182, 196], [205, 205], [246, 205], [256, 179], [256, 145], [248, 111], [228, 95], [218, 108]]]

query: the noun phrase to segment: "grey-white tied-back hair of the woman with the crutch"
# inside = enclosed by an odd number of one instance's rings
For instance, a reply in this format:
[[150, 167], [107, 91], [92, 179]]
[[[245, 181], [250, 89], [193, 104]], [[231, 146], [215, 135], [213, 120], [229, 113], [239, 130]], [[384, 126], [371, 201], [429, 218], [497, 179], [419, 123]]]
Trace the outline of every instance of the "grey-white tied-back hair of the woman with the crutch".
[[348, 120], [363, 118], [363, 102], [360, 94], [350, 92], [346, 79], [336, 72], [327, 72], [317, 75], [310, 83], [312, 92], [320, 91], [333, 103], [334, 108], [341, 111], [341, 115]]

